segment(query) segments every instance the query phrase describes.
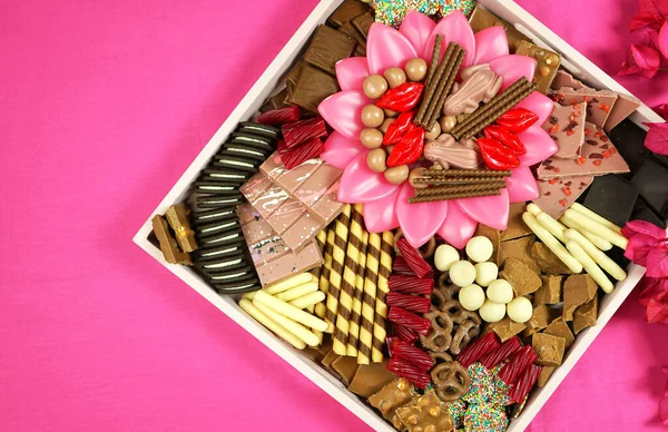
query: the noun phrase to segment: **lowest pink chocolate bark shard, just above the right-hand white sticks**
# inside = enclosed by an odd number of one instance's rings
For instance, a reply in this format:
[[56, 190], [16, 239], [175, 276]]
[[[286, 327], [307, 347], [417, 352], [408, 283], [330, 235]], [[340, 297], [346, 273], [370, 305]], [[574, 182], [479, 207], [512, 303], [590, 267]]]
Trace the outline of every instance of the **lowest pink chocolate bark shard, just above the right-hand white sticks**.
[[551, 178], [549, 180], [537, 179], [538, 198], [533, 203], [541, 210], [558, 219], [591, 185], [592, 176], [574, 176]]

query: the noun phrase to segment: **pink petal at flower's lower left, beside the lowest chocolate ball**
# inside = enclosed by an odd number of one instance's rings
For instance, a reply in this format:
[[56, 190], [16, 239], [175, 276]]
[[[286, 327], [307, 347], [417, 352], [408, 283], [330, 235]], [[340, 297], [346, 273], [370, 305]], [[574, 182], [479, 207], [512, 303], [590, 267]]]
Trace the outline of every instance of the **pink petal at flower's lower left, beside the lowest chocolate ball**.
[[366, 155], [360, 155], [345, 168], [338, 186], [338, 200], [367, 203], [381, 199], [399, 188], [385, 180], [385, 176], [369, 169]]

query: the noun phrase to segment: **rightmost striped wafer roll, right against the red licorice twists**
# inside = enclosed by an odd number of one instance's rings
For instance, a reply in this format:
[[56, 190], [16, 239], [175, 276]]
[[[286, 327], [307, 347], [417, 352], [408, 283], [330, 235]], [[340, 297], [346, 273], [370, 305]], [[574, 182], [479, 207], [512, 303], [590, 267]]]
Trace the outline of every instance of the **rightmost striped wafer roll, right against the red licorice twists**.
[[383, 233], [381, 239], [381, 259], [379, 265], [379, 286], [376, 292], [375, 317], [373, 323], [373, 348], [372, 361], [380, 363], [383, 361], [383, 344], [385, 343], [385, 318], [387, 317], [387, 304], [385, 297], [390, 292], [387, 281], [392, 273], [392, 252], [394, 249], [394, 234]]

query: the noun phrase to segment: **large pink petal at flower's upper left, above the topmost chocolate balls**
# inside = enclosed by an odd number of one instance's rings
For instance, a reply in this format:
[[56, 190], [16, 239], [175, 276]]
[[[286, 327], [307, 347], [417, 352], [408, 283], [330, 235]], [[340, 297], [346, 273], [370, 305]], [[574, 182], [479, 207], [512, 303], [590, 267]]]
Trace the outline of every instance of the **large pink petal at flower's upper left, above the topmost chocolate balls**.
[[366, 60], [371, 73], [383, 75], [387, 68], [403, 68], [406, 61], [416, 57], [418, 51], [405, 36], [379, 22], [371, 24], [366, 38]]

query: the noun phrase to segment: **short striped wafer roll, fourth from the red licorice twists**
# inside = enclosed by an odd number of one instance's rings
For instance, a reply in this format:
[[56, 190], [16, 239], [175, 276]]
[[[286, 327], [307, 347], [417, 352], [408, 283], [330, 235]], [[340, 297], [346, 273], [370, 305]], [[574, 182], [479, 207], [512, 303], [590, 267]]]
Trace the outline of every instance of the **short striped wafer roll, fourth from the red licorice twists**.
[[327, 310], [325, 323], [327, 333], [334, 332], [336, 314], [338, 313], [338, 295], [341, 293], [341, 281], [343, 278], [343, 262], [345, 261], [345, 245], [347, 244], [348, 226], [351, 225], [351, 205], [343, 207], [343, 212], [336, 218], [334, 228], [334, 247], [332, 249], [332, 271], [330, 272], [330, 286], [327, 291]]

